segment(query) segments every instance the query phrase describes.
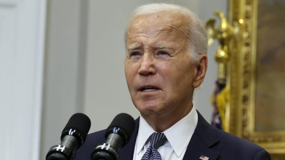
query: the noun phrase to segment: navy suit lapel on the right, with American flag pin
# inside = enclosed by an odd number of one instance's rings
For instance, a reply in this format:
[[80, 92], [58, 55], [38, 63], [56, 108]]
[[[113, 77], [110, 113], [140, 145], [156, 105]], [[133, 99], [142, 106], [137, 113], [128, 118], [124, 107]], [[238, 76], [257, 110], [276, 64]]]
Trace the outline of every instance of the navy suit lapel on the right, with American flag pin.
[[199, 159], [200, 156], [206, 156], [209, 160], [216, 160], [219, 152], [210, 149], [212, 145], [219, 142], [219, 137], [215, 129], [198, 113], [197, 127], [191, 137], [186, 149], [183, 160]]

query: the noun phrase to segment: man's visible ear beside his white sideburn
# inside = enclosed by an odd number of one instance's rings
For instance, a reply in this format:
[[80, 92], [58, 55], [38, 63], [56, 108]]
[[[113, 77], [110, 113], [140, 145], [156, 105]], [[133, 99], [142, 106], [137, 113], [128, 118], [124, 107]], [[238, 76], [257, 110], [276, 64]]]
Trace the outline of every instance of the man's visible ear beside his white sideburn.
[[205, 54], [200, 55], [200, 61], [196, 65], [196, 75], [193, 81], [193, 87], [199, 87], [204, 81], [205, 74], [208, 68], [208, 57]]

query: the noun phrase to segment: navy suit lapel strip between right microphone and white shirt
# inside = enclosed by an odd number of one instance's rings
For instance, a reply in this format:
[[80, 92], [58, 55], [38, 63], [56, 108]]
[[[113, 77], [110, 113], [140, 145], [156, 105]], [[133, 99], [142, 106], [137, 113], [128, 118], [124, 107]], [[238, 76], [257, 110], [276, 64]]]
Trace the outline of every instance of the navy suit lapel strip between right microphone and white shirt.
[[140, 118], [137, 118], [135, 120], [136, 127], [134, 128], [134, 133], [132, 137], [130, 138], [129, 143], [127, 143], [123, 148], [120, 149], [119, 155], [120, 160], [130, 160], [134, 157], [134, 148], [137, 140], [137, 134], [139, 132], [139, 124], [140, 124]]

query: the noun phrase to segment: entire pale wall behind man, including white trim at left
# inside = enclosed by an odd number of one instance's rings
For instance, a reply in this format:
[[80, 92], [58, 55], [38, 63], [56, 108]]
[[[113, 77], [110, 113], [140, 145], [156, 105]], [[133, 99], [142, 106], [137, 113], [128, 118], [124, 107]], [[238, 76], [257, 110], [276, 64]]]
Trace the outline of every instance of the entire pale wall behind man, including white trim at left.
[[[124, 30], [132, 10], [150, 2], [188, 7], [205, 22], [227, 0], [0, 0], [0, 159], [44, 160], [74, 113], [105, 129], [118, 113], [139, 116], [124, 76]], [[218, 44], [194, 97], [210, 121]]]

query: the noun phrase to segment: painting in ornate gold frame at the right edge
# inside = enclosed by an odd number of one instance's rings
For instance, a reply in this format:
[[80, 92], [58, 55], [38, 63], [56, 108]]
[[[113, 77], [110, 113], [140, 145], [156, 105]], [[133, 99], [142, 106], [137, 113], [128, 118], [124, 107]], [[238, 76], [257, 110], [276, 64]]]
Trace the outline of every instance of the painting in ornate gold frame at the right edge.
[[227, 132], [285, 159], [285, 1], [229, 0], [231, 41]]

